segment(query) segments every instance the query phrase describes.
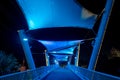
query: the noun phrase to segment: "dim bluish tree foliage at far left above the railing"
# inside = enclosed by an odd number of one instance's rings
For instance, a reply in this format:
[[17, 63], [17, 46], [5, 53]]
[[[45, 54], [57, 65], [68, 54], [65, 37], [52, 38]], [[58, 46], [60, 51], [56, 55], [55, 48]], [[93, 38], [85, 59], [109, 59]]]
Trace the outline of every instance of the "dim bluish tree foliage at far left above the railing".
[[20, 65], [16, 57], [12, 54], [6, 54], [0, 51], [0, 75], [13, 73], [18, 71]]

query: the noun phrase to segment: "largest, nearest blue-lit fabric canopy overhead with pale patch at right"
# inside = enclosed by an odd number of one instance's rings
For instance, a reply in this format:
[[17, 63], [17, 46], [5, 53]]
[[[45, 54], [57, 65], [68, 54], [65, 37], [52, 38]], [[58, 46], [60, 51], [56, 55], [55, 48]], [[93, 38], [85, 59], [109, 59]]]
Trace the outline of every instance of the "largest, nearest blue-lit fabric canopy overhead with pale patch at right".
[[17, 3], [29, 30], [69, 26], [92, 29], [97, 16], [74, 0], [17, 0]]

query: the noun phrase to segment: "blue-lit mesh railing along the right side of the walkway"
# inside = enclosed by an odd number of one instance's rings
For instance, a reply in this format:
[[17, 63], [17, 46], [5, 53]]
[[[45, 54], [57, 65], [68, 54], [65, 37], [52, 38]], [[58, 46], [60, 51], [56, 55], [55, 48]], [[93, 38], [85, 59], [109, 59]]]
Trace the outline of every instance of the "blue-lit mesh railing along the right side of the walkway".
[[[94, 70], [88, 70], [86, 68], [77, 67], [74, 65], [67, 66], [70, 70], [72, 70], [79, 77], [83, 76], [83, 80], [120, 80], [120, 77], [113, 76], [110, 74], [97, 72]], [[86, 78], [85, 78], [86, 77]]]

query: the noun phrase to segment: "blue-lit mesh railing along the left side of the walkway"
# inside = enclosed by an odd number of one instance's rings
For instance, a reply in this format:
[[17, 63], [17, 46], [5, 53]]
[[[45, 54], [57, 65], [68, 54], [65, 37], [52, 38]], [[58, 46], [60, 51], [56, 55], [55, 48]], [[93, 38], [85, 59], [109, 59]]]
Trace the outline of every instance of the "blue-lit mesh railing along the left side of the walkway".
[[40, 80], [57, 67], [58, 66], [56, 65], [42, 66], [34, 70], [27, 70], [0, 76], [0, 80]]

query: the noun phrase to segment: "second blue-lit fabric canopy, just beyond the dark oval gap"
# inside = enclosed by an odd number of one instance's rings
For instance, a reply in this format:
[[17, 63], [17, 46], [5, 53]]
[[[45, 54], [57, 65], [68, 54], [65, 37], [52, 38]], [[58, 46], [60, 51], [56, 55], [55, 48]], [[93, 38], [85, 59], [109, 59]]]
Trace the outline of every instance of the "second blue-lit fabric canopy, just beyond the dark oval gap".
[[73, 50], [82, 40], [74, 41], [43, 41], [38, 40], [42, 43], [49, 53], [58, 53], [58, 54], [73, 54]]

